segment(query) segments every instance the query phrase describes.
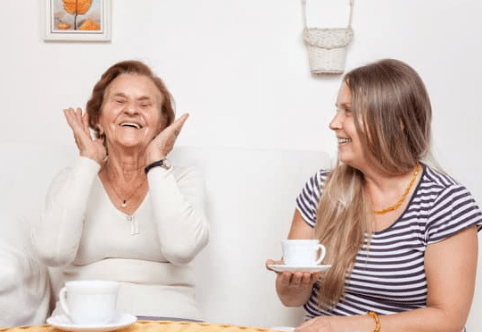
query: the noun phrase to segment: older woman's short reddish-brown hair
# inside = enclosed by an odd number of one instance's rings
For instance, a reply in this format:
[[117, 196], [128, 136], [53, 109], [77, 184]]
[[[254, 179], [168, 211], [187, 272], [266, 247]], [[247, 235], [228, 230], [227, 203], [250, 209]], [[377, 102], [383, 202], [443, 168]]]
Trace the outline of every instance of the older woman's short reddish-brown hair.
[[158, 76], [154, 75], [152, 70], [146, 64], [135, 60], [122, 61], [114, 64], [102, 74], [102, 77], [92, 90], [92, 96], [87, 102], [86, 111], [87, 114], [89, 114], [89, 126], [95, 131], [96, 137], [101, 137], [97, 124], [99, 123], [105, 91], [109, 84], [121, 74], [137, 74], [149, 77], [154, 82], [162, 96], [160, 111], [165, 122], [164, 127], [169, 126], [174, 121], [174, 100], [164, 82]]

